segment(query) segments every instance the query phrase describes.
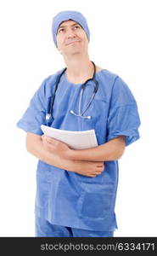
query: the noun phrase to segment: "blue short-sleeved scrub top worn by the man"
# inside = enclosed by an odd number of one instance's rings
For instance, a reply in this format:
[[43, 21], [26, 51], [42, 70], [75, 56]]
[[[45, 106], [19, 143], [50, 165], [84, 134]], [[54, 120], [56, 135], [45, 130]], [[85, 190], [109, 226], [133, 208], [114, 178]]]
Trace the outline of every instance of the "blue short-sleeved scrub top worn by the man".
[[[48, 76], [31, 98], [29, 107], [18, 122], [26, 132], [42, 136], [41, 125], [46, 125], [45, 116], [52, 96], [53, 85], [59, 72]], [[64, 73], [53, 104], [54, 128], [69, 131], [94, 129], [98, 145], [110, 139], [126, 136], [126, 146], [137, 141], [140, 119], [137, 102], [128, 85], [115, 73], [103, 69], [96, 73], [98, 92], [82, 119], [70, 113], [78, 113], [81, 84], [72, 84]], [[82, 108], [87, 107], [93, 95], [93, 81], [88, 82]], [[82, 110], [83, 110], [82, 109]], [[52, 224], [84, 230], [117, 229], [115, 198], [118, 185], [118, 160], [104, 162], [104, 172], [96, 177], [86, 177], [50, 166], [38, 160], [36, 170], [35, 213]]]

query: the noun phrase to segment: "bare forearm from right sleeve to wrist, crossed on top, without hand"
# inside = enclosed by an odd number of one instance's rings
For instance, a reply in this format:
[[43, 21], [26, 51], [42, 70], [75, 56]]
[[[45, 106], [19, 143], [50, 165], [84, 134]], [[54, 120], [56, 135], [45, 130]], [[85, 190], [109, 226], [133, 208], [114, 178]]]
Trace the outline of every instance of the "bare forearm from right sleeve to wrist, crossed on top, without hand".
[[115, 137], [108, 143], [104, 143], [96, 148], [71, 149], [68, 154], [70, 160], [110, 161], [119, 160], [125, 148], [125, 136], [121, 136]]

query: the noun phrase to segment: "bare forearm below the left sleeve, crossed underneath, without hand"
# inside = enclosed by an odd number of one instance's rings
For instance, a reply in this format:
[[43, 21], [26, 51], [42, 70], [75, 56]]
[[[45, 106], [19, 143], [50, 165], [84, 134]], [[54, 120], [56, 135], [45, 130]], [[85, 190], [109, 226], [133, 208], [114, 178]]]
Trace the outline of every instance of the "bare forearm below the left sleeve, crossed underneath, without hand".
[[56, 166], [67, 171], [72, 171], [74, 167], [73, 160], [61, 159], [59, 155], [48, 152], [48, 150], [43, 147], [42, 139], [27, 143], [26, 148], [29, 153], [50, 166]]

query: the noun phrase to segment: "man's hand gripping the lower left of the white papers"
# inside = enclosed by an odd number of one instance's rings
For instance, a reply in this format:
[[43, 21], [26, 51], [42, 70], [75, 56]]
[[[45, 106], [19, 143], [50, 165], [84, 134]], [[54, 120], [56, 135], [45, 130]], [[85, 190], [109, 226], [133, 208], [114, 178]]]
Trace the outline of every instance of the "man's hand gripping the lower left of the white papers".
[[67, 159], [70, 154], [70, 147], [66, 143], [62, 143], [52, 137], [42, 135], [43, 147], [50, 153], [57, 154], [61, 158]]

